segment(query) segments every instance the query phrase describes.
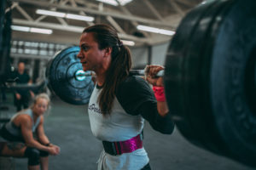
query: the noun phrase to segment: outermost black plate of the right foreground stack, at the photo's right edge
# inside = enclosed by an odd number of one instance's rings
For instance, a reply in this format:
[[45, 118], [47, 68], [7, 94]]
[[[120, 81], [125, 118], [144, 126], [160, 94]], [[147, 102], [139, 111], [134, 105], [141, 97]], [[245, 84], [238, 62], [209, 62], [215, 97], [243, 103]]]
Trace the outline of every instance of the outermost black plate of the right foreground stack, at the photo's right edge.
[[253, 72], [255, 75], [255, 8], [255, 0], [236, 1], [219, 27], [212, 51], [209, 87], [212, 113], [227, 150], [236, 160], [254, 167], [256, 98], [248, 97], [247, 90], [255, 92], [255, 79], [248, 80], [253, 79]]

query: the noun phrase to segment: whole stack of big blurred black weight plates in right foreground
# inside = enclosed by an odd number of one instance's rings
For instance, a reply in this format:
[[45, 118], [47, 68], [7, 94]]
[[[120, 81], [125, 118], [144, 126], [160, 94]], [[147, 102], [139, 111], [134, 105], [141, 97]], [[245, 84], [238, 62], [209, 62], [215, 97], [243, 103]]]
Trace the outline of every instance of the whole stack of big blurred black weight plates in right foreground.
[[[255, 166], [255, 96], [245, 89], [251, 87], [255, 92], [255, 79], [251, 81], [250, 77], [255, 78], [256, 59], [252, 58], [256, 53], [253, 51], [256, 2], [246, 1], [243, 5], [242, 1], [235, 0], [216, 2], [223, 6], [209, 8], [216, 11], [212, 17], [208, 15], [211, 11], [202, 15], [198, 26], [194, 26], [195, 31], [186, 35], [187, 39], [183, 38], [189, 43], [179, 42], [183, 31], [177, 29], [166, 57], [166, 99], [178, 129], [189, 141]], [[179, 27], [186, 24], [183, 21]], [[237, 32], [241, 32], [242, 37]], [[214, 54], [217, 49], [223, 54]], [[246, 52], [247, 57], [241, 51]], [[239, 63], [241, 70], [234, 64], [236, 55], [243, 60]], [[248, 62], [254, 62], [251, 69], [247, 69]], [[235, 78], [240, 84], [237, 89], [232, 87]], [[231, 105], [231, 101], [239, 93], [242, 98], [236, 98], [236, 103], [248, 112], [242, 110], [240, 116], [236, 116], [238, 111], [234, 110], [238, 105]]]

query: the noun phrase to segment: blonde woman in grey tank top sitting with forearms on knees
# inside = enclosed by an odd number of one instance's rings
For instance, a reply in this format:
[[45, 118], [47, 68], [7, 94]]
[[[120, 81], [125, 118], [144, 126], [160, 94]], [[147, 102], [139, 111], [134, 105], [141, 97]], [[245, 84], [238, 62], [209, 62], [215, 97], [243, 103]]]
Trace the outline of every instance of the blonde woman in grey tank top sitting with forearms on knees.
[[29, 109], [16, 113], [4, 124], [0, 130], [0, 156], [27, 157], [29, 170], [47, 170], [49, 155], [60, 153], [60, 147], [51, 144], [44, 133], [44, 113], [48, 109], [49, 96], [38, 94]]

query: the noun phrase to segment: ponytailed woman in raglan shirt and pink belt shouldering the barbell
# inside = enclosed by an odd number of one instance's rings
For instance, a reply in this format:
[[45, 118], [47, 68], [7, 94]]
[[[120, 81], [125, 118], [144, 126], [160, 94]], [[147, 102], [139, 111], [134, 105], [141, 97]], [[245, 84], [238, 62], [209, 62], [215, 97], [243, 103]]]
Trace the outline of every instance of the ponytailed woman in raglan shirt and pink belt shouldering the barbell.
[[102, 140], [104, 148], [97, 169], [151, 169], [143, 148], [144, 119], [160, 133], [171, 134], [174, 129], [163, 78], [155, 77], [164, 68], [148, 65], [147, 82], [129, 75], [130, 50], [108, 25], [85, 28], [79, 46], [84, 71], [96, 73], [88, 113], [92, 133]]

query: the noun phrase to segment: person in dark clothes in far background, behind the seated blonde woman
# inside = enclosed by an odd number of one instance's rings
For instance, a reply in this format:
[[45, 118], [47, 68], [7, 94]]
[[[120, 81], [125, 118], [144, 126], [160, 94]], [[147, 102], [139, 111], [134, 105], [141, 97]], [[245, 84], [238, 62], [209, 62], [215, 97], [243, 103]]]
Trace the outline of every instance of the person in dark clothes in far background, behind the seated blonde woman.
[[[18, 78], [17, 84], [28, 84], [32, 83], [31, 78], [25, 71], [25, 63], [19, 62], [18, 71], [15, 71], [12, 75], [12, 78]], [[29, 101], [31, 98], [34, 98], [34, 93], [28, 89], [17, 89], [15, 90], [15, 106], [16, 111], [20, 111], [23, 109], [27, 109], [29, 105]]]

